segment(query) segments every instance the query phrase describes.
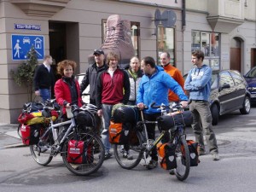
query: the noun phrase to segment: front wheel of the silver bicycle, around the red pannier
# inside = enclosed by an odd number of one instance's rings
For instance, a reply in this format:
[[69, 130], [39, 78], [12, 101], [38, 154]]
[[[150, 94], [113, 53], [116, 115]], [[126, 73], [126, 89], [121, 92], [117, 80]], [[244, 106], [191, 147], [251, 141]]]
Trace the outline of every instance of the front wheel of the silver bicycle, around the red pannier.
[[[74, 163], [68, 162], [67, 161], [68, 142], [74, 139], [74, 136], [71, 136], [68, 139], [66, 139], [63, 145], [62, 152], [61, 152], [62, 160], [70, 172], [73, 172], [75, 175], [79, 175], [79, 176], [88, 176], [94, 172], [97, 172], [98, 169], [102, 166], [102, 163], [105, 157], [104, 156], [105, 149], [104, 149], [104, 145], [102, 143], [101, 138], [98, 137], [97, 135], [84, 132], [84, 133], [79, 133], [79, 137], [80, 137], [79, 141], [86, 142], [87, 146], [93, 146], [92, 147], [93, 152], [91, 153], [93, 155], [91, 156], [90, 154], [90, 157], [89, 157], [89, 155], [85, 154], [88, 160], [86, 163], [83, 163], [83, 164], [74, 164]], [[84, 153], [87, 153], [87, 151], [84, 151]]]

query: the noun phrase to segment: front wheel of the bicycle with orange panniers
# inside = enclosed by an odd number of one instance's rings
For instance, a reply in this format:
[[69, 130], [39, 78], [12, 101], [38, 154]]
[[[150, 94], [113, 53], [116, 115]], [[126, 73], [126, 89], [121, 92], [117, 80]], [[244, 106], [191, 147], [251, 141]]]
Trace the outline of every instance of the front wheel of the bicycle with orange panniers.
[[177, 143], [175, 155], [177, 160], [177, 168], [174, 169], [174, 173], [178, 180], [183, 181], [189, 177], [190, 170], [189, 147], [184, 136], [180, 137]]

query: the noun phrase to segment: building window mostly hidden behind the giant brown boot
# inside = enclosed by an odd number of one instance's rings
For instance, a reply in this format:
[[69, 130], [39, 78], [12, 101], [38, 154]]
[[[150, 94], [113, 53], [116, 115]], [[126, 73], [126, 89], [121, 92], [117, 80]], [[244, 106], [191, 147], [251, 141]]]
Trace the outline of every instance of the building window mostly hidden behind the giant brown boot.
[[[106, 38], [106, 28], [107, 20], [102, 20], [102, 44]], [[134, 48], [134, 55], [140, 58], [139, 55], [139, 34], [140, 34], [140, 24], [138, 22], [131, 21], [131, 43]]]

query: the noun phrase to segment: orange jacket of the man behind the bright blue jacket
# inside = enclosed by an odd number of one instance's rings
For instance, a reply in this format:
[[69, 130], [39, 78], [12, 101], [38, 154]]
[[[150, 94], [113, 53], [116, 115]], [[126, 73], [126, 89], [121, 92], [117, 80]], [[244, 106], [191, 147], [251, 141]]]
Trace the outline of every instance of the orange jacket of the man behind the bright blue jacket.
[[[164, 67], [164, 70], [166, 73], [171, 75], [172, 78], [174, 80], [176, 80], [177, 83], [183, 88], [183, 91], [185, 91], [184, 90], [184, 79], [183, 79], [183, 76], [180, 73], [180, 71], [176, 67], [173, 67], [171, 64], [166, 65]], [[169, 102], [178, 102], [179, 98], [175, 93], [172, 92], [172, 90], [169, 90], [168, 100], [169, 100]]]

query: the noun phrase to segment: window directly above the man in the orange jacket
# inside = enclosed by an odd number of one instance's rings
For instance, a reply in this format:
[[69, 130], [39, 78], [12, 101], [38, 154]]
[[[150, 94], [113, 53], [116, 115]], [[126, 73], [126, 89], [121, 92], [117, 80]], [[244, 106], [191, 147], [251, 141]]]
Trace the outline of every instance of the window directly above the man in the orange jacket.
[[171, 63], [176, 66], [175, 60], [175, 46], [174, 46], [174, 28], [165, 28], [158, 26], [157, 32], [157, 52], [158, 52], [158, 65], [160, 65], [160, 55], [163, 52], [168, 52], [171, 56]]

